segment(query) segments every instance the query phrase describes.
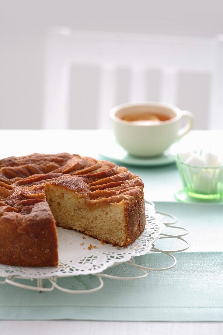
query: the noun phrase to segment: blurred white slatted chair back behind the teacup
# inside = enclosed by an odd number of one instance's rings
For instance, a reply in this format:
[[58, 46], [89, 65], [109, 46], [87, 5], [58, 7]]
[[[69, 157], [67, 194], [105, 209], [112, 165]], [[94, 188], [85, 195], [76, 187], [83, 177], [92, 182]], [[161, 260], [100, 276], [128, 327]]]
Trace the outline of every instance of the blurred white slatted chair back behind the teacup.
[[47, 40], [44, 129], [109, 128], [109, 110], [158, 100], [223, 129], [223, 38], [54, 28]]

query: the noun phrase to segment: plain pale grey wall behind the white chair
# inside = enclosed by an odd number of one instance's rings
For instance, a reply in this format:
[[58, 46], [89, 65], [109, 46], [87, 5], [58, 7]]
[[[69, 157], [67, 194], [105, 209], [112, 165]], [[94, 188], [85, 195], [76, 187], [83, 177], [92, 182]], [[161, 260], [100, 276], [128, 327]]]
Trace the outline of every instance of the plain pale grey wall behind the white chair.
[[[180, 7], [179, 7], [180, 6]], [[185, 7], [183, 7], [185, 6]], [[214, 37], [223, 34], [222, 1], [179, 2], [156, 1], [10, 1], [0, 2], [0, 128], [38, 129], [42, 127], [44, 108], [44, 57], [47, 32], [52, 26], [69, 26], [75, 30], [117, 31], [144, 34]], [[89, 69], [97, 76], [97, 69]], [[86, 69], [74, 67], [73, 73], [83, 84]], [[125, 74], [124, 75], [128, 75]], [[193, 85], [187, 74], [181, 75], [193, 94]], [[156, 77], [154, 77], [156, 78]], [[75, 91], [77, 81], [71, 83]], [[91, 82], [90, 100], [97, 89]], [[203, 89], [208, 89], [204, 76]], [[184, 87], [184, 86], [183, 86]], [[183, 88], [181, 87], [181, 90]], [[179, 94], [181, 94], [179, 88]], [[84, 96], [71, 100], [71, 110], [78, 108]], [[124, 102], [125, 96], [120, 97]], [[196, 100], [196, 96], [194, 97]], [[180, 108], [191, 109], [187, 95], [183, 94]], [[203, 98], [204, 111], [208, 98]], [[76, 107], [75, 107], [76, 106]], [[199, 105], [200, 106], [200, 105]], [[86, 106], [88, 108], [88, 106]], [[195, 108], [193, 106], [193, 108]], [[199, 107], [200, 108], [200, 107]], [[192, 111], [194, 112], [194, 111]], [[6, 118], [7, 115], [7, 118]], [[75, 128], [71, 117], [71, 128]], [[80, 128], [86, 128], [79, 123]], [[196, 128], [207, 128], [207, 119]], [[94, 128], [94, 120], [92, 127]]]

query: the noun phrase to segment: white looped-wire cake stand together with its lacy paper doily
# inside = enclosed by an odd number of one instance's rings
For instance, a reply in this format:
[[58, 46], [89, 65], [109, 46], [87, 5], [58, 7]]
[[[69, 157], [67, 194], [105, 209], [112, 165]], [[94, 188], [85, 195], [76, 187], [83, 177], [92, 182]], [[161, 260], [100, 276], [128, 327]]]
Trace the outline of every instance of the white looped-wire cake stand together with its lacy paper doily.
[[[103, 277], [118, 280], [141, 279], [150, 271], [163, 271], [173, 268], [176, 265], [176, 258], [171, 252], [181, 252], [189, 248], [189, 243], [183, 239], [189, 231], [181, 226], [175, 226], [175, 216], [155, 211], [154, 203], [146, 202], [146, 227], [141, 236], [127, 248], [113, 247], [110, 244], [102, 244], [93, 238], [85, 237], [78, 231], [58, 228], [59, 264], [57, 267], [28, 268], [0, 264], [0, 277], [4, 279], [0, 284], [8, 283], [13, 286], [35, 290], [39, 292], [53, 291], [55, 288], [72, 294], [92, 293], [101, 289], [104, 285]], [[163, 222], [164, 217], [171, 218], [172, 222]], [[182, 230], [178, 235], [163, 233], [166, 227]], [[186, 243], [183, 249], [161, 250], [155, 247], [158, 239], [178, 239]], [[163, 253], [173, 259], [173, 264], [165, 268], [150, 268], [135, 263], [135, 257], [145, 255], [148, 252]], [[103, 273], [104, 270], [125, 263], [136, 268], [142, 275], [134, 277], [120, 277]], [[146, 271], [147, 270], [147, 271]], [[94, 275], [99, 279], [99, 286], [86, 290], [73, 290], [61, 287], [57, 283], [58, 278]], [[16, 279], [37, 279], [37, 286], [27, 285], [16, 281]], [[44, 279], [48, 279], [51, 287], [44, 287]]]

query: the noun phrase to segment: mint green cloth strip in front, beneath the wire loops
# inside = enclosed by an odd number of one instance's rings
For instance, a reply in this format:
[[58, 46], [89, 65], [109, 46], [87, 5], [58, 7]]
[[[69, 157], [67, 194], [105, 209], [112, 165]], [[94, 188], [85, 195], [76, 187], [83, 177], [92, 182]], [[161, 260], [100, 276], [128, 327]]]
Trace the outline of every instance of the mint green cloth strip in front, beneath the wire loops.
[[[104, 278], [105, 285], [100, 291], [85, 295], [57, 290], [38, 293], [2, 285], [0, 318], [223, 321], [223, 253], [181, 253], [177, 261], [169, 271], [149, 272], [146, 278], [136, 281]], [[142, 265], [162, 267], [167, 262], [167, 257], [161, 254], [140, 257]], [[106, 273], [136, 275], [136, 271], [125, 264], [108, 269]], [[76, 289], [98, 284], [93, 276], [81, 276], [79, 280], [62, 279], [59, 284]]]

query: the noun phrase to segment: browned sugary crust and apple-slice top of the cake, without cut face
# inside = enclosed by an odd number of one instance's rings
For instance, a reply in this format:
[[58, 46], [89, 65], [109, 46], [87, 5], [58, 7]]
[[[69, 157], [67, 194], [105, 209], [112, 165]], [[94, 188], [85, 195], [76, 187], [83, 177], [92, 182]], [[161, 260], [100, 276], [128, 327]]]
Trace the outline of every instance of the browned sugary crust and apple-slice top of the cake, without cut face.
[[0, 160], [0, 263], [57, 264], [57, 231], [46, 183], [73, 190], [89, 208], [124, 200], [126, 245], [144, 230], [144, 185], [126, 167], [69, 153], [12, 156]]

